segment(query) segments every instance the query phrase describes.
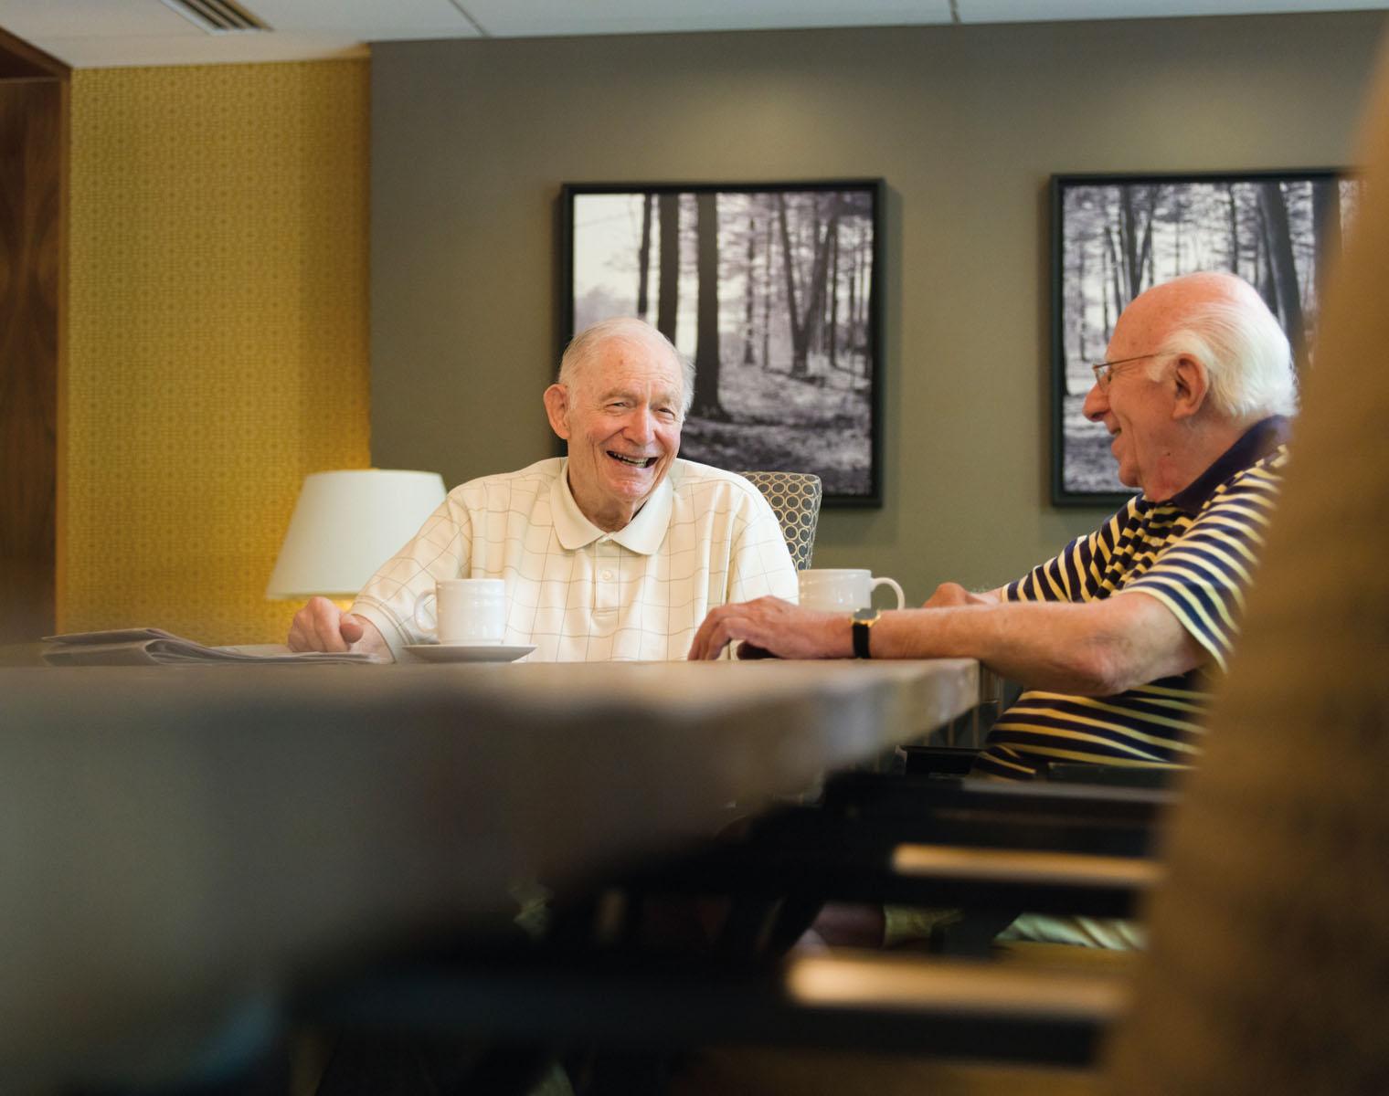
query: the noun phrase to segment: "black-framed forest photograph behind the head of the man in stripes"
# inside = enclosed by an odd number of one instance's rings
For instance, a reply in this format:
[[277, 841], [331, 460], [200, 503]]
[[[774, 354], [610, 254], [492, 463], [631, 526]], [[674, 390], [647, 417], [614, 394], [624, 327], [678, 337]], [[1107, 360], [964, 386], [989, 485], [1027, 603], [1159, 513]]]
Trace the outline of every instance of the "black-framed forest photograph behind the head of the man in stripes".
[[1317, 335], [1318, 286], [1340, 251], [1358, 183], [1333, 169], [1051, 176], [1051, 501], [1120, 507], [1110, 436], [1082, 414], [1114, 322], [1145, 289], [1181, 274], [1232, 271], [1253, 285], [1293, 344]]

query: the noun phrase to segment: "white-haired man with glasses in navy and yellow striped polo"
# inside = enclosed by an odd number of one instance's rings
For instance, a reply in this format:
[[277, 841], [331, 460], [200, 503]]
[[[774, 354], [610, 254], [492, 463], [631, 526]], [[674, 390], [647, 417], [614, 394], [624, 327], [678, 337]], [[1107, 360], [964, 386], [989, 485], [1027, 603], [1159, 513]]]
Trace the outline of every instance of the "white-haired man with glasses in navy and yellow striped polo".
[[917, 610], [724, 606], [690, 657], [732, 640], [789, 658], [974, 657], [1031, 689], [999, 720], [988, 772], [1179, 763], [1197, 749], [1204, 679], [1233, 645], [1295, 407], [1288, 339], [1247, 282], [1158, 285], [1120, 317], [1085, 400], [1120, 479], [1142, 489], [1104, 525], [1007, 586], [945, 583]]

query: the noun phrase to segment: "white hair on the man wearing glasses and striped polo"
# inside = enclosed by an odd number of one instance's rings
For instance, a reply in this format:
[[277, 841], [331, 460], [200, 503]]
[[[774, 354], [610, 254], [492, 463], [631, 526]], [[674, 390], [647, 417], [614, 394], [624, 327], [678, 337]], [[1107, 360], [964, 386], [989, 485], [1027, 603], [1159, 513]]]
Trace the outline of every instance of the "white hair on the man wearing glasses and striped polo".
[[1192, 307], [1168, 332], [1161, 353], [1200, 361], [1215, 410], [1231, 418], [1297, 411], [1292, 347], [1274, 314], [1253, 292]]

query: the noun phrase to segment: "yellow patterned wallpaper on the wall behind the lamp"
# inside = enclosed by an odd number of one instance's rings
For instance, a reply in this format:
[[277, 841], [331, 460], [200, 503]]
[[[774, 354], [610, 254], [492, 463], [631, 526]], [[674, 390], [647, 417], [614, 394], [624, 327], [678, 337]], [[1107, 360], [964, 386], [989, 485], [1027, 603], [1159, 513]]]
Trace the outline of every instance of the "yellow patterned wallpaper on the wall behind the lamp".
[[369, 464], [368, 76], [72, 74], [60, 629], [283, 639], [299, 485]]

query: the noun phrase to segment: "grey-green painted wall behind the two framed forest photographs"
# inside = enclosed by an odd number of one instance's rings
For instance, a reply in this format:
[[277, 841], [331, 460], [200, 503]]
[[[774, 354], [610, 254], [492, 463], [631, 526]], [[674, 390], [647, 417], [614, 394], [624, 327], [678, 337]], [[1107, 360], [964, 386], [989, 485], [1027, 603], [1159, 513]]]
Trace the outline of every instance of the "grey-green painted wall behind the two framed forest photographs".
[[372, 460], [554, 453], [561, 182], [883, 176], [885, 497], [815, 563], [908, 597], [1092, 528], [1049, 468], [1053, 172], [1347, 161], [1382, 14], [372, 47]]

